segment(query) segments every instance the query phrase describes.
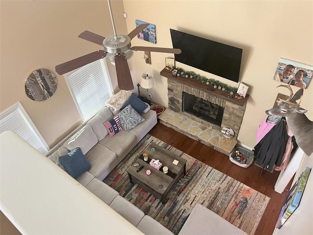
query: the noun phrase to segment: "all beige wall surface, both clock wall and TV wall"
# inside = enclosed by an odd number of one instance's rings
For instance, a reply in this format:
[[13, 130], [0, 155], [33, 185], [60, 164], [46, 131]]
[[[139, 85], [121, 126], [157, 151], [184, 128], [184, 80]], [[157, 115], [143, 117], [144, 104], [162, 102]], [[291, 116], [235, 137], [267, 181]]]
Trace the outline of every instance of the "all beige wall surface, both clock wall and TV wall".
[[[100, 49], [77, 36], [84, 30], [112, 35], [107, 1], [1, 0], [0, 4], [0, 112], [20, 101], [52, 146], [81, 122], [67, 84], [63, 76], [56, 74], [56, 93], [46, 101], [36, 102], [25, 95], [24, 81], [36, 69], [55, 71], [55, 65]], [[313, 65], [311, 0], [112, 0], [112, 9], [117, 33], [126, 33], [127, 29], [130, 32], [136, 19], [156, 24], [156, 45], [134, 38], [132, 46], [172, 47], [169, 28], [173, 28], [244, 49], [241, 81], [250, 86], [250, 98], [238, 140], [249, 147], [255, 145], [258, 125], [267, 117], [265, 110], [272, 107], [277, 93], [288, 94], [287, 89], [276, 88], [279, 83], [272, 80], [279, 58]], [[143, 55], [144, 52], [134, 52], [130, 63], [134, 82], [140, 81], [142, 72], [153, 72], [155, 87], [149, 93], [154, 102], [167, 107], [167, 79], [159, 71], [164, 68], [164, 58], [173, 54], [152, 52], [152, 65], [145, 64]], [[115, 68], [108, 66], [117, 91]], [[178, 66], [238, 86], [212, 74], [179, 63]], [[141, 92], [147, 93], [144, 89]], [[307, 116], [313, 120], [312, 100], [310, 84], [302, 107], [309, 109]]]

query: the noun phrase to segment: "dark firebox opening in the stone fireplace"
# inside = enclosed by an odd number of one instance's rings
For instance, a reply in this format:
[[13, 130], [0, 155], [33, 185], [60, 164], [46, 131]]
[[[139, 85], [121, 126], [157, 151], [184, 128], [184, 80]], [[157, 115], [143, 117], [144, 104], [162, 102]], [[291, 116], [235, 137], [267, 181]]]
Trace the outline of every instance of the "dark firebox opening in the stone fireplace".
[[183, 112], [221, 126], [224, 108], [192, 94], [183, 92]]

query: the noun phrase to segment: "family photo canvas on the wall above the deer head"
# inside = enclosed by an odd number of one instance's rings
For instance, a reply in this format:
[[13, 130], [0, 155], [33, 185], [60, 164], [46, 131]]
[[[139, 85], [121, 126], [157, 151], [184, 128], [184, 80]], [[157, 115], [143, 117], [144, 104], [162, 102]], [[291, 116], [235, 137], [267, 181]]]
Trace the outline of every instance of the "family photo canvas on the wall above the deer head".
[[273, 79], [307, 89], [309, 82], [312, 80], [312, 75], [312, 65], [280, 58]]

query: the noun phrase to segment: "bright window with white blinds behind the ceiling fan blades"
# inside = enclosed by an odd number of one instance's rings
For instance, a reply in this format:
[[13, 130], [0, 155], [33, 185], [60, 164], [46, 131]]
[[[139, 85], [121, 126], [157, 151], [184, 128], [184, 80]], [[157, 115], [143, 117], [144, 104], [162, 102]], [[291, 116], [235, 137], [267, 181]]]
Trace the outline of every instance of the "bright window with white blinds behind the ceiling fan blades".
[[113, 95], [104, 59], [68, 72], [64, 76], [83, 121], [92, 118]]

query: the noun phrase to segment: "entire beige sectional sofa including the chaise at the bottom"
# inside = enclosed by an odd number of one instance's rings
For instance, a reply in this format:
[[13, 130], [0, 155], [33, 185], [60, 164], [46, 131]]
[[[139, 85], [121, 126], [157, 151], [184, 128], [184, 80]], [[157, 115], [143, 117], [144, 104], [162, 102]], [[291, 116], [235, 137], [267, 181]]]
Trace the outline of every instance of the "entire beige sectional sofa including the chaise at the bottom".
[[[116, 96], [118, 94], [114, 97]], [[143, 211], [121, 197], [117, 191], [102, 182], [157, 123], [156, 112], [149, 110], [140, 113], [144, 121], [132, 130], [127, 132], [122, 129], [110, 137], [104, 123], [111, 120], [117, 112], [118, 110], [112, 110], [112, 107], [104, 107], [97, 115], [67, 135], [46, 156], [58, 164], [60, 156], [80, 147], [90, 163], [90, 169], [76, 178], [81, 185], [89, 189], [142, 233], [146, 235], [173, 235], [155, 219], [145, 215]], [[201, 235], [212, 231], [214, 231], [213, 234], [246, 234], [219, 215], [198, 204], [189, 215], [179, 235]]]

